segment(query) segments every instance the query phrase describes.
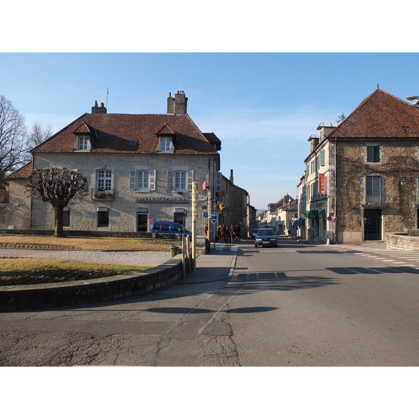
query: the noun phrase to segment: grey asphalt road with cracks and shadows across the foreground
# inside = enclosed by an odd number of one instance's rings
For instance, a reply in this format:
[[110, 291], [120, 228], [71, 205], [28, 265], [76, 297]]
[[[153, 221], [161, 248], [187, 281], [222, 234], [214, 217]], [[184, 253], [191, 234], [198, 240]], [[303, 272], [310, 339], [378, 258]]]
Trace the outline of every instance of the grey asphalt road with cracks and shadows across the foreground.
[[0, 365], [417, 366], [418, 272], [334, 246], [244, 242], [228, 281], [0, 313]]

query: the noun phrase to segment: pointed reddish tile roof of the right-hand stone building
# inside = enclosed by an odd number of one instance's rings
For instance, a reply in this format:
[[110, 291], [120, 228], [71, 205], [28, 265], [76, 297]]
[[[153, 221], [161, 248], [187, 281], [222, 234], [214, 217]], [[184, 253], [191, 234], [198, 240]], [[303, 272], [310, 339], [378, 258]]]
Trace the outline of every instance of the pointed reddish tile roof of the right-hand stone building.
[[419, 109], [376, 89], [328, 138], [419, 138]]

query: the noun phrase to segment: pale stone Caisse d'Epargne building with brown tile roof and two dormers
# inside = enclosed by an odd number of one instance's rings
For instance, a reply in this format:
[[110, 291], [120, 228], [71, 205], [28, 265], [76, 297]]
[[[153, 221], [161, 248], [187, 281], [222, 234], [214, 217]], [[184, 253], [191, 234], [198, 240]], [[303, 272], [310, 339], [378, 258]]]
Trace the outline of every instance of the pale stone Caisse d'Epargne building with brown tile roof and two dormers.
[[[71, 201], [65, 229], [146, 232], [153, 221], [162, 220], [191, 228], [192, 184], [198, 183], [198, 205], [207, 203], [209, 189], [215, 191], [216, 179], [221, 177], [221, 141], [214, 133], [200, 131], [187, 114], [186, 104], [183, 91], [175, 97], [169, 94], [166, 114], [112, 114], [96, 102], [91, 113], [32, 149], [34, 170], [66, 167], [88, 179], [89, 196]], [[10, 181], [15, 185], [13, 177]], [[205, 223], [207, 219], [198, 212], [198, 232]], [[9, 218], [0, 228], [10, 224], [52, 230], [52, 206], [33, 199], [29, 221], [17, 223]]]

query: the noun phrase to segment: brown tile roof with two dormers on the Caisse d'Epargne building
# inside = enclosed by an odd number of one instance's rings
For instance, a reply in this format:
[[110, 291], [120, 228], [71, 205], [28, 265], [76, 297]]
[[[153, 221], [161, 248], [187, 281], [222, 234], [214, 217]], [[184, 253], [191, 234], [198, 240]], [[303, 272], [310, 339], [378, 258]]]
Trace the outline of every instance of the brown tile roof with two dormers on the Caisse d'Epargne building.
[[[189, 115], [108, 113], [82, 115], [33, 152], [73, 152], [74, 132], [86, 127], [96, 134], [91, 153], [154, 154], [159, 142], [156, 133], [164, 127], [165, 132], [175, 133], [175, 154], [218, 154]], [[137, 140], [138, 146], [128, 147], [129, 140]]]

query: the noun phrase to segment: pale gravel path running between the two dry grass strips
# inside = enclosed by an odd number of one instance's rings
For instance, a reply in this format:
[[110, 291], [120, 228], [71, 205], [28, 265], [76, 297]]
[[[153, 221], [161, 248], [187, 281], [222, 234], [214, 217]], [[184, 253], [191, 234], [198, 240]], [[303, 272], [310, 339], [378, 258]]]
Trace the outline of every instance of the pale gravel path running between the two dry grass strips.
[[115, 265], [157, 266], [170, 259], [170, 251], [87, 251], [0, 249], [5, 258], [59, 258]]

